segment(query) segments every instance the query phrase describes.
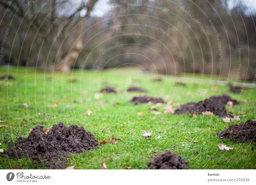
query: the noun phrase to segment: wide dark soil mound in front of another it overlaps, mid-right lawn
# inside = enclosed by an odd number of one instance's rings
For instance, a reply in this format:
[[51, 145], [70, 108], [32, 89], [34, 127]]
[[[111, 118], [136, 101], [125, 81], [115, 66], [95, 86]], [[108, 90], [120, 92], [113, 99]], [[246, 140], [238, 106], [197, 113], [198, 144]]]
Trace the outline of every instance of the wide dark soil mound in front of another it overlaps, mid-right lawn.
[[180, 108], [174, 111], [174, 114], [202, 114], [202, 112], [211, 111], [215, 115], [226, 117], [226, 106], [217, 100], [218, 99], [205, 99], [200, 102], [190, 102], [185, 105], [181, 105]]

